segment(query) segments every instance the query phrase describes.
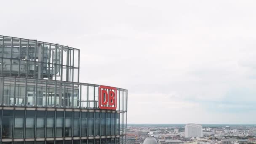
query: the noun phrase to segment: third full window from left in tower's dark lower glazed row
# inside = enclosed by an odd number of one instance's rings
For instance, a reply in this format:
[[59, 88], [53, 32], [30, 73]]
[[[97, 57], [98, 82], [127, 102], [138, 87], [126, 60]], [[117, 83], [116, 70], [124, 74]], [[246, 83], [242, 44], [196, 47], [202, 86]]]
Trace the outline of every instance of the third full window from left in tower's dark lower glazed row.
[[35, 137], [35, 111], [26, 111], [26, 133], [25, 138]]

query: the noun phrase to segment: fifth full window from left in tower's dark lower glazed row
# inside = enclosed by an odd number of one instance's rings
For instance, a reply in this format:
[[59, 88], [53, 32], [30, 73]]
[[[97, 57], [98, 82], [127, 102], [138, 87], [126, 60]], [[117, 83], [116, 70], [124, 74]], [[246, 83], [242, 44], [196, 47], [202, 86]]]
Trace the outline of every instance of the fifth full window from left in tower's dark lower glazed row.
[[48, 138], [54, 137], [54, 118], [55, 111], [47, 111], [46, 135]]

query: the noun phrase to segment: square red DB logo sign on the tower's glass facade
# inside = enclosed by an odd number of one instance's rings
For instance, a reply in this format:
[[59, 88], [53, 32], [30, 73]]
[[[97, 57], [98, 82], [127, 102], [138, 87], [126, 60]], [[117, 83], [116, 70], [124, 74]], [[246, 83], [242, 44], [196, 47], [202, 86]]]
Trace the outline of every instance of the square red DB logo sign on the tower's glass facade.
[[117, 89], [109, 86], [99, 86], [99, 108], [117, 109]]

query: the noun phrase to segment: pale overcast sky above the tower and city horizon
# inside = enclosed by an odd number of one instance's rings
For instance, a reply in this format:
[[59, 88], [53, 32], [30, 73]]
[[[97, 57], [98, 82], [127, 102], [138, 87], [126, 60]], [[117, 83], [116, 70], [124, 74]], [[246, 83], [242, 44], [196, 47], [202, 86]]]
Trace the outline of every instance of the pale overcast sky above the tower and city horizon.
[[4, 0], [0, 35], [80, 49], [128, 123], [256, 123], [255, 0]]

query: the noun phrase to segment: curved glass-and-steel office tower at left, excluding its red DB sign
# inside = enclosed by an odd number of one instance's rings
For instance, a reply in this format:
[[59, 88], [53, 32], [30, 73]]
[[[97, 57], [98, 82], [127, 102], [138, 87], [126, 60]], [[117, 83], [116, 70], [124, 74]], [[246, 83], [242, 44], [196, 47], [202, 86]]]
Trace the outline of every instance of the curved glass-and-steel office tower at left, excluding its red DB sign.
[[125, 144], [128, 91], [100, 109], [79, 59], [77, 48], [0, 36], [1, 144]]

